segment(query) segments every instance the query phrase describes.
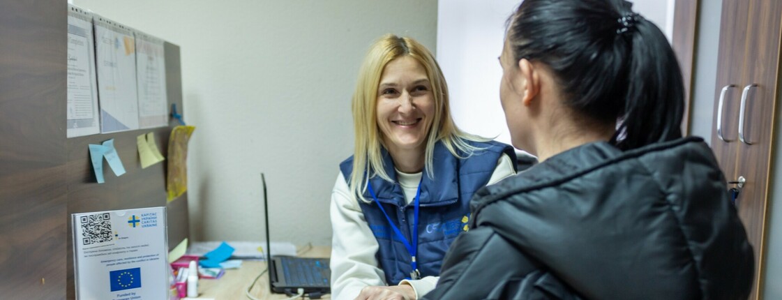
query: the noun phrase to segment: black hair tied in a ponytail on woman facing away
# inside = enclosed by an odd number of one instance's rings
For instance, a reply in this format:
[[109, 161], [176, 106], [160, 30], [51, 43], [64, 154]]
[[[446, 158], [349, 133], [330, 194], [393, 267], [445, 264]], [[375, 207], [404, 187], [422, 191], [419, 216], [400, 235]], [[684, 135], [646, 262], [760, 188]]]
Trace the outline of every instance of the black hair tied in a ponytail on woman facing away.
[[565, 104], [638, 148], [681, 137], [684, 86], [665, 35], [622, 0], [525, 0], [508, 27], [515, 59], [549, 66]]

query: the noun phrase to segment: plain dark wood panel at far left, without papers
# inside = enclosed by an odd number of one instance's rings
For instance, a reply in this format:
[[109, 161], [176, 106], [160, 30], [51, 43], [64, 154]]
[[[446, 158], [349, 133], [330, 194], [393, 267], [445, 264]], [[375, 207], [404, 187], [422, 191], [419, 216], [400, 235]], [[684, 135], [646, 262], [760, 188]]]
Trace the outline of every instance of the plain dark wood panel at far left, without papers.
[[0, 2], [0, 297], [66, 289], [66, 2]]

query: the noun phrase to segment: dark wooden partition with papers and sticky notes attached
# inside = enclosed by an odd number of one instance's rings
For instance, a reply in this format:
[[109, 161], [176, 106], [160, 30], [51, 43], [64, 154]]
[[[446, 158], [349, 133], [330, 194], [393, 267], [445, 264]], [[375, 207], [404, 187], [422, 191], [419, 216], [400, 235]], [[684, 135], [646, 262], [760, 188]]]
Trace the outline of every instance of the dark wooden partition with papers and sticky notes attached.
[[[70, 213], [167, 206], [170, 241], [188, 237], [187, 195], [166, 203], [166, 162], [142, 169], [136, 136], [169, 127], [66, 139], [67, 6], [0, 2], [0, 298], [75, 298]], [[167, 95], [180, 110], [179, 47], [167, 43]], [[97, 184], [88, 144], [115, 138], [127, 170]], [[105, 163], [105, 162], [104, 162]], [[172, 240], [173, 239], [173, 240]]]

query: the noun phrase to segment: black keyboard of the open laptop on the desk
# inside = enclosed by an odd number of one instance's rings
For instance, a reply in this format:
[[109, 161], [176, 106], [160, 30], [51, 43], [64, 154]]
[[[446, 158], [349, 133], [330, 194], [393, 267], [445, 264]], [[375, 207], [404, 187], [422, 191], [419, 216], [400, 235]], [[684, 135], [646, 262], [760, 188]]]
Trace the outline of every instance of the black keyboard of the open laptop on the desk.
[[280, 260], [287, 285], [303, 288], [329, 286], [331, 270], [328, 269], [328, 260], [300, 257], [281, 257]]

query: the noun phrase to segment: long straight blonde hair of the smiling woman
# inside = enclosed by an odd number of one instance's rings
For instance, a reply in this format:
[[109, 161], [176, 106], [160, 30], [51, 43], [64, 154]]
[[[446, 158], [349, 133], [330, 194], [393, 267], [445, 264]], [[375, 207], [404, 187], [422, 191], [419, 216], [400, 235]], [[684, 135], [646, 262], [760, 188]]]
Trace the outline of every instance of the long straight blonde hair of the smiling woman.
[[[353, 173], [350, 174], [350, 191], [365, 201], [363, 195], [366, 182], [371, 177], [379, 176], [392, 181], [382, 161], [382, 138], [377, 123], [377, 100], [380, 77], [386, 65], [400, 57], [415, 59], [426, 70], [426, 76], [432, 84], [432, 95], [435, 100], [435, 113], [432, 127], [429, 129], [426, 141], [425, 169], [426, 175], [434, 178], [432, 173], [432, 153], [437, 141], [454, 156], [466, 157], [476, 149], [469, 141], [488, 141], [476, 135], [459, 130], [450, 116], [448, 101], [448, 86], [443, 77], [443, 71], [427, 48], [410, 37], [397, 37], [386, 34], [380, 37], [367, 52], [358, 73], [356, 91], [353, 93], [353, 127], [356, 145], [353, 152]], [[434, 133], [434, 134], [432, 134]], [[459, 155], [458, 151], [464, 153]]]

